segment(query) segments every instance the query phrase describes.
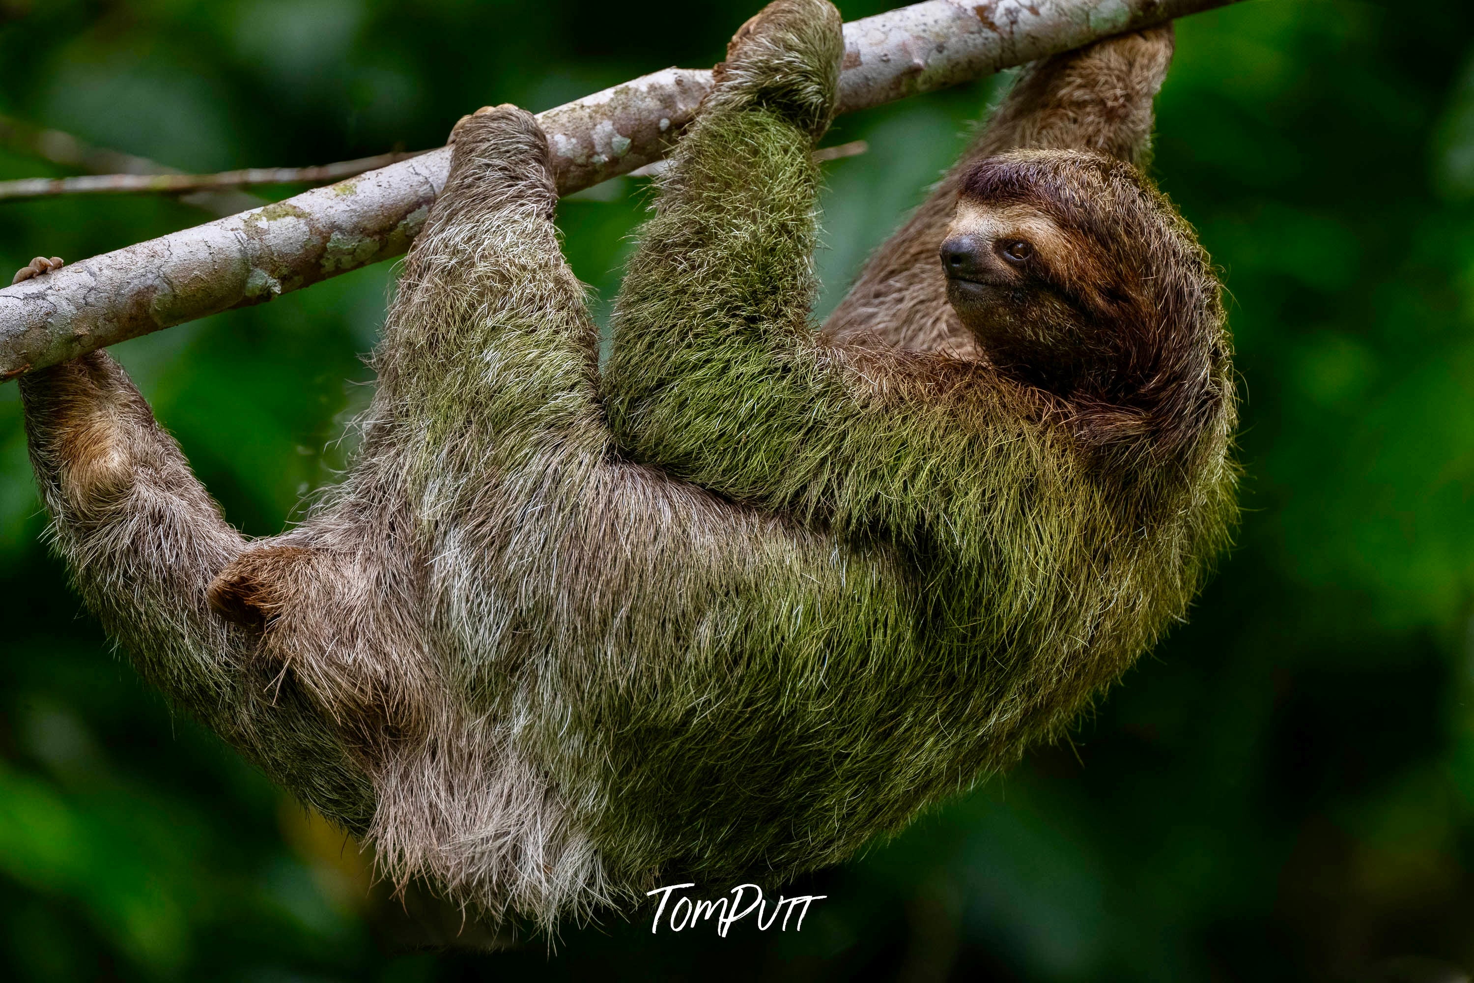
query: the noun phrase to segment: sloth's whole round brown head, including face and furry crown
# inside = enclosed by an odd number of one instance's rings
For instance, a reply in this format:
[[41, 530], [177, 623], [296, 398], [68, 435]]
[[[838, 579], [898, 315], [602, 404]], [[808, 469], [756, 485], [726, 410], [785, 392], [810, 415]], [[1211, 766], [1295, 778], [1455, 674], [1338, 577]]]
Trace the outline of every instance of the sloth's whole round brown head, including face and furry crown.
[[940, 259], [948, 299], [989, 361], [1063, 396], [1154, 401], [1200, 377], [1222, 333], [1218, 280], [1191, 228], [1104, 155], [980, 161]]

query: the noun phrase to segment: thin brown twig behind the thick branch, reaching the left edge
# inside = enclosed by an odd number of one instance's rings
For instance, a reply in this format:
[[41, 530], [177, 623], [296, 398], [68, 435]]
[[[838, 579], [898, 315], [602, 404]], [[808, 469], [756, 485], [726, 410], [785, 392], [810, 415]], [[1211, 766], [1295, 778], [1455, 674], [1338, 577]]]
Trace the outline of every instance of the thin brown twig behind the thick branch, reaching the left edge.
[[[357, 161], [339, 161], [317, 167], [270, 167], [221, 171], [220, 174], [124, 172], [87, 177], [25, 177], [0, 181], [0, 200], [50, 197], [55, 195], [181, 195], [186, 192], [215, 192], [255, 187], [259, 184], [326, 184], [366, 171], [417, 158], [429, 150], [397, 150]], [[119, 155], [124, 156], [124, 155]]]

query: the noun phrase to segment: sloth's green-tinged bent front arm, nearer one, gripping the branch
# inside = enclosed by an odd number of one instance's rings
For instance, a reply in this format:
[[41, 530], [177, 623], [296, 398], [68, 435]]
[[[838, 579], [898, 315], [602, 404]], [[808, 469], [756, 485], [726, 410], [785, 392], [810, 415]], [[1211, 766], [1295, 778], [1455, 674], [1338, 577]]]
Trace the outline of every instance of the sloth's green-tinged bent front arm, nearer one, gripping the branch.
[[809, 155], [840, 35], [828, 4], [781, 9], [789, 22], [734, 43], [629, 264], [604, 374], [616, 441], [733, 498], [912, 545], [993, 553], [976, 532], [1026, 523], [1044, 560], [1100, 508], [1066, 433], [1032, 426], [976, 365], [812, 340]]

